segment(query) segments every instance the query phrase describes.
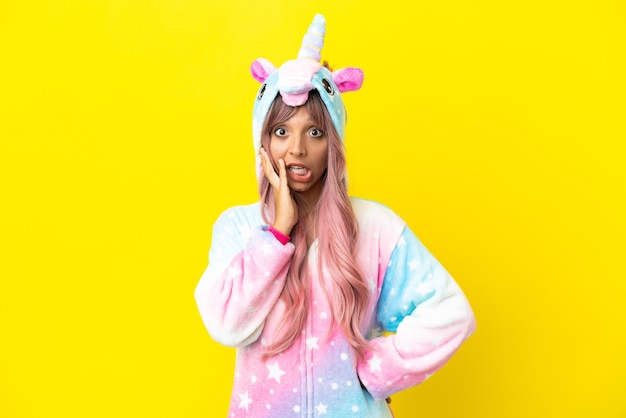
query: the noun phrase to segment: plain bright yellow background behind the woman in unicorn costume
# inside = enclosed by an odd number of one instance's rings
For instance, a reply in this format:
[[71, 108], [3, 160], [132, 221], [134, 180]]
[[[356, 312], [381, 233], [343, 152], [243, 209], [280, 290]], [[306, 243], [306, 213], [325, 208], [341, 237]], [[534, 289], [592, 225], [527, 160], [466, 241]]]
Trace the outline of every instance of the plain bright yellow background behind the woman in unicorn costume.
[[256, 199], [249, 65], [317, 12], [366, 75], [352, 194], [478, 319], [396, 416], [626, 417], [620, 0], [3, 1], [0, 417], [226, 416], [234, 352], [193, 290]]

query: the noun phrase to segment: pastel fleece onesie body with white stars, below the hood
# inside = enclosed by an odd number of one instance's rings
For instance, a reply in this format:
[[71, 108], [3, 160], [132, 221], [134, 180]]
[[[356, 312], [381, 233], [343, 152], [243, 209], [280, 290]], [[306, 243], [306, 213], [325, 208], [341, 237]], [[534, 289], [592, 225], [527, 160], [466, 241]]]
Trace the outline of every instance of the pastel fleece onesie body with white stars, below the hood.
[[[203, 321], [218, 342], [237, 347], [229, 417], [391, 417], [385, 398], [439, 369], [475, 327], [459, 286], [388, 208], [352, 199], [358, 264], [371, 289], [363, 360], [337, 328], [309, 248], [311, 307], [301, 338], [263, 361], [284, 312], [279, 296], [294, 245], [263, 224], [259, 203], [216, 221], [210, 263], [196, 288]], [[383, 332], [390, 334], [383, 336]]]

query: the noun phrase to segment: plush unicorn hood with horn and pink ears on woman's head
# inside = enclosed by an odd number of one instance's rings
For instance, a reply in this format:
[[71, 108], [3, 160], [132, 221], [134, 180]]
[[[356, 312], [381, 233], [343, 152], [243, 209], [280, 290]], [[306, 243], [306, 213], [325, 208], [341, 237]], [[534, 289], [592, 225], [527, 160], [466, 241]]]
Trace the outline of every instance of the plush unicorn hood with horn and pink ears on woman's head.
[[278, 94], [289, 106], [301, 106], [309, 98], [309, 91], [317, 90], [328, 109], [335, 130], [344, 139], [346, 110], [341, 94], [361, 88], [363, 71], [359, 68], [342, 68], [330, 71], [320, 63], [321, 50], [324, 46], [326, 20], [322, 15], [315, 15], [313, 23], [302, 39], [298, 57], [285, 62], [280, 68], [264, 58], [256, 59], [250, 66], [252, 76], [261, 88], [254, 102], [252, 117], [252, 137], [254, 150], [261, 147], [263, 123], [272, 102]]

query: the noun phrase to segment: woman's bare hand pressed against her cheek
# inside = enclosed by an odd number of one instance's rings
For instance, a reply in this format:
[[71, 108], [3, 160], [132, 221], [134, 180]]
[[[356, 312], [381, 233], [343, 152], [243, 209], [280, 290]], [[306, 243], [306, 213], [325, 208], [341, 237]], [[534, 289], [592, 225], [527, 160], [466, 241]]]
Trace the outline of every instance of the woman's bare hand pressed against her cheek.
[[261, 147], [261, 164], [263, 173], [274, 189], [274, 201], [276, 205], [276, 217], [272, 227], [289, 236], [294, 225], [298, 222], [298, 207], [291, 197], [291, 190], [287, 184], [287, 169], [285, 161], [278, 160], [278, 173], [274, 170], [272, 161], [267, 152]]

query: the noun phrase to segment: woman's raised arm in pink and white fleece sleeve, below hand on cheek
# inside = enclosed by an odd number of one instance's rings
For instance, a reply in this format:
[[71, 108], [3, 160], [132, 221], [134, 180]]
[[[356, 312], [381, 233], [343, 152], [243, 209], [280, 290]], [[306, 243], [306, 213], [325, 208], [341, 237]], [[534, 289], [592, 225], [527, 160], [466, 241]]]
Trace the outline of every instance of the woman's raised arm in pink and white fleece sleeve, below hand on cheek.
[[230, 209], [213, 227], [210, 263], [195, 298], [209, 334], [227, 346], [254, 342], [282, 292], [294, 252], [267, 227]]

